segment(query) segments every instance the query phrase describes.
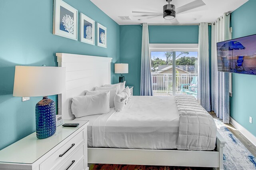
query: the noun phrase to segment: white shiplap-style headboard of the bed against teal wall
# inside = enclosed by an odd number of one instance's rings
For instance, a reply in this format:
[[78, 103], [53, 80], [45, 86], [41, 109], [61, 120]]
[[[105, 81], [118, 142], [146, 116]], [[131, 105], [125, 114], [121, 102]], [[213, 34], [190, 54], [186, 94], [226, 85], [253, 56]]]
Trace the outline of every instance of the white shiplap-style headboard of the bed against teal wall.
[[58, 67], [66, 67], [66, 91], [58, 95], [58, 114], [64, 120], [73, 120], [71, 97], [110, 84], [112, 58], [68, 53], [56, 53], [56, 56]]

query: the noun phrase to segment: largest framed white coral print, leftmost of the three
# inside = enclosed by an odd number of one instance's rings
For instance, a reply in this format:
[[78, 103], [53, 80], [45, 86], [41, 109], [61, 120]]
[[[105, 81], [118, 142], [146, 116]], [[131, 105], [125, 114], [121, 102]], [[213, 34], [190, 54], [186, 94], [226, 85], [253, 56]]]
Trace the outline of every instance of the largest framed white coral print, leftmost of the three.
[[78, 11], [62, 0], [54, 0], [52, 34], [77, 40]]

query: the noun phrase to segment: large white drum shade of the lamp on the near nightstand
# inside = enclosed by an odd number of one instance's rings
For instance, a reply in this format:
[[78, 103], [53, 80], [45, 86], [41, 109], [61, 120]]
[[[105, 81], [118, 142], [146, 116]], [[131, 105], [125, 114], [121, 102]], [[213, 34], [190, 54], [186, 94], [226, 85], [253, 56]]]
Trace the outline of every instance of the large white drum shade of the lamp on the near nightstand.
[[16, 66], [13, 96], [57, 95], [64, 92], [65, 80], [65, 67]]

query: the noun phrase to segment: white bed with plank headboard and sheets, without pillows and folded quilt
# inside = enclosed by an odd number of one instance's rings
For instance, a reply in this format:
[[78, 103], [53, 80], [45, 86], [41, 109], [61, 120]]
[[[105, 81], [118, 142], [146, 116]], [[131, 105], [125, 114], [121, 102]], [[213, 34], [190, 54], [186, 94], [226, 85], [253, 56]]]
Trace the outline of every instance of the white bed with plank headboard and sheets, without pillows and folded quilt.
[[[112, 58], [67, 53], [56, 53], [56, 56], [58, 66], [66, 67], [66, 91], [58, 96], [59, 114], [63, 119], [73, 120], [75, 117], [71, 112], [70, 98], [84, 95], [85, 90], [90, 91], [95, 86], [110, 84]], [[161, 108], [162, 112], [156, 115], [156, 111], [159, 110], [157, 106], [160, 107], [160, 103], [166, 100], [170, 101], [170, 104]], [[177, 137], [180, 126], [179, 111], [182, 111], [177, 103], [179, 100], [172, 96], [133, 96], [131, 102], [118, 114], [111, 109], [104, 115], [78, 118], [90, 121], [88, 163], [202, 166], [223, 169], [225, 141], [218, 131], [214, 138], [216, 143], [214, 150], [176, 149], [179, 148]], [[147, 108], [147, 116], [143, 105], [152, 106]], [[193, 111], [197, 112], [195, 109]], [[128, 116], [131, 114], [134, 114], [132, 118]], [[120, 119], [125, 116], [128, 117]], [[142, 124], [144, 126], [141, 126]]]

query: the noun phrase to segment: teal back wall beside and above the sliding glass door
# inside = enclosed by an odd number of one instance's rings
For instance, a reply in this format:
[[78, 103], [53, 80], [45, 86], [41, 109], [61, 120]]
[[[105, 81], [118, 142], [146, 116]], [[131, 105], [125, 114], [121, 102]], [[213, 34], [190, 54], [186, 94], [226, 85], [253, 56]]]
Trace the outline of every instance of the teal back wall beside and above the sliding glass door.
[[[198, 26], [148, 26], [150, 43], [198, 43]], [[120, 26], [120, 62], [129, 64], [126, 83], [140, 95], [142, 26]]]

